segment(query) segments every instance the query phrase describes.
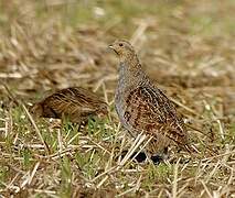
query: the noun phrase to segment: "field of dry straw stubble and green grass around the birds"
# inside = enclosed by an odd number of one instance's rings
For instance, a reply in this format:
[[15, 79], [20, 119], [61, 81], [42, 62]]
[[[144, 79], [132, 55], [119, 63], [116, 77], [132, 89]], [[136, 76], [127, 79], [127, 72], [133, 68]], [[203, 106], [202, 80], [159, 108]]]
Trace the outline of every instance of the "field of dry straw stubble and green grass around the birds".
[[[235, 197], [234, 21], [233, 0], [0, 1], [0, 197]], [[196, 157], [173, 146], [160, 165], [120, 157], [143, 138], [114, 110], [116, 38], [175, 101]], [[78, 131], [29, 114], [71, 86], [103, 96], [109, 116]]]

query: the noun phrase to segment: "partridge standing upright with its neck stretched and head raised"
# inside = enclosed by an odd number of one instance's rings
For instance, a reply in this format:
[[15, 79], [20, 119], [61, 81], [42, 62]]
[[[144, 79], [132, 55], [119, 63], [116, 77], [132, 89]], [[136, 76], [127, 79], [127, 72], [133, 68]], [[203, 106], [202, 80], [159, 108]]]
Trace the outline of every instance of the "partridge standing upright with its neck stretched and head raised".
[[109, 47], [119, 57], [115, 107], [124, 128], [133, 136], [140, 132], [151, 135], [150, 154], [163, 155], [170, 142], [186, 148], [188, 132], [183, 120], [172, 101], [142, 70], [132, 45], [117, 40]]

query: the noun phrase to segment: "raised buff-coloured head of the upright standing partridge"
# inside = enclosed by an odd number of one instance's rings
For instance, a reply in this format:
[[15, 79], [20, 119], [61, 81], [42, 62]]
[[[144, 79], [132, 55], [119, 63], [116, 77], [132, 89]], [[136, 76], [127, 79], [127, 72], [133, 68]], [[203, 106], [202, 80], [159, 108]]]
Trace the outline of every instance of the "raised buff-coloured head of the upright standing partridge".
[[109, 48], [115, 51], [115, 53], [122, 61], [135, 55], [135, 50], [132, 45], [126, 40], [116, 40], [113, 44], [109, 45]]

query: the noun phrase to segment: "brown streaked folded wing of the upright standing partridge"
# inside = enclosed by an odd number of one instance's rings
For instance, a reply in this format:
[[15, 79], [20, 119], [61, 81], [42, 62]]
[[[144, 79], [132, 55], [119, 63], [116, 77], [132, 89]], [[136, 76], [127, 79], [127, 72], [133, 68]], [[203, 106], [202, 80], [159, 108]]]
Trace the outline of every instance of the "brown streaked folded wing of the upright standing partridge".
[[151, 86], [135, 88], [126, 98], [126, 107], [124, 119], [127, 125], [153, 136], [161, 134], [178, 143], [185, 142], [182, 119], [178, 118], [173, 103], [160, 89]]

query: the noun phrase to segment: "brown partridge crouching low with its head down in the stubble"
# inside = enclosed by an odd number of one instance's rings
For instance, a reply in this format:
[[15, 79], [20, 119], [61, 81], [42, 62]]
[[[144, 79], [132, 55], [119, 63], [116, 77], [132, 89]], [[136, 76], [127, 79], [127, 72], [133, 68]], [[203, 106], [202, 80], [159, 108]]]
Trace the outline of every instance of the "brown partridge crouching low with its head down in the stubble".
[[43, 118], [67, 118], [71, 122], [81, 123], [88, 117], [107, 114], [108, 105], [96, 94], [82, 87], [62, 89], [35, 103], [31, 113]]

